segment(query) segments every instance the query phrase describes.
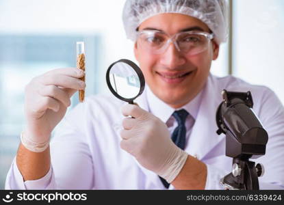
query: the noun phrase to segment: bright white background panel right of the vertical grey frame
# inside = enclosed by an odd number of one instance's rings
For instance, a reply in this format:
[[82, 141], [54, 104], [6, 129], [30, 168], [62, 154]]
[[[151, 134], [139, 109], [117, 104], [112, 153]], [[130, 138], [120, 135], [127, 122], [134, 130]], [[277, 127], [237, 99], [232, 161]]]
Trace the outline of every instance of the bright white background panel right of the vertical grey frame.
[[284, 1], [233, 3], [233, 74], [270, 87], [284, 102]]

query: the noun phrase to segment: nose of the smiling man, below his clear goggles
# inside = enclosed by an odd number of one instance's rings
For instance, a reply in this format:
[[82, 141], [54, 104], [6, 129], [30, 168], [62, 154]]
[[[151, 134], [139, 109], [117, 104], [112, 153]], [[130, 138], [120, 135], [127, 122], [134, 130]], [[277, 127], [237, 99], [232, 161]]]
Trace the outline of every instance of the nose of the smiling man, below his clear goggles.
[[175, 69], [185, 64], [185, 61], [185, 57], [177, 50], [177, 47], [173, 42], [170, 42], [168, 48], [160, 57], [160, 63], [170, 69]]

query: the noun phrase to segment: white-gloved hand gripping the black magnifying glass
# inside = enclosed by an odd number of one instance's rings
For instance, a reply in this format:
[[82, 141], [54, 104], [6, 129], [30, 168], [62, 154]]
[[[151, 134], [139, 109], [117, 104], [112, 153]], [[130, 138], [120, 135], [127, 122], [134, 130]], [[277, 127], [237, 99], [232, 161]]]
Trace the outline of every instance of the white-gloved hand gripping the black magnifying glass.
[[124, 105], [122, 114], [133, 118], [122, 121], [120, 147], [135, 156], [143, 167], [172, 182], [188, 154], [172, 142], [166, 124], [137, 105]]

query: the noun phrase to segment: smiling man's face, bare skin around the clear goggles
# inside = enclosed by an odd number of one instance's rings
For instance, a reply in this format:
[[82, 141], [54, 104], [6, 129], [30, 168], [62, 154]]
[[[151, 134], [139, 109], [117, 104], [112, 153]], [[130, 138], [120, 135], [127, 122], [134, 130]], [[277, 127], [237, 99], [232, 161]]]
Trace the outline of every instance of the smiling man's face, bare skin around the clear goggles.
[[[169, 36], [191, 28], [210, 33], [205, 23], [183, 14], [158, 14], [148, 18], [139, 27], [157, 29]], [[210, 41], [208, 49], [196, 55], [187, 55], [170, 43], [164, 53], [153, 54], [135, 43], [135, 58], [140, 64], [146, 83], [159, 99], [170, 107], [179, 108], [192, 100], [205, 85], [212, 59], [218, 57], [219, 46]], [[181, 74], [183, 77], [179, 77]]]

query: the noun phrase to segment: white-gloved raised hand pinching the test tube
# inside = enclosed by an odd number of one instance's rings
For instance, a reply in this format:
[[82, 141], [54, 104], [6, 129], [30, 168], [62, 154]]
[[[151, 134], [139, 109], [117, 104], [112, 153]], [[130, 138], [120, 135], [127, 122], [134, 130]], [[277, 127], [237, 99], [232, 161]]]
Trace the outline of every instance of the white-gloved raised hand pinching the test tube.
[[49, 145], [53, 128], [62, 120], [70, 97], [86, 85], [79, 80], [84, 72], [77, 68], [59, 68], [35, 77], [25, 87], [23, 145], [33, 152], [43, 152]]

